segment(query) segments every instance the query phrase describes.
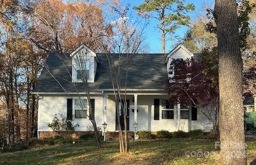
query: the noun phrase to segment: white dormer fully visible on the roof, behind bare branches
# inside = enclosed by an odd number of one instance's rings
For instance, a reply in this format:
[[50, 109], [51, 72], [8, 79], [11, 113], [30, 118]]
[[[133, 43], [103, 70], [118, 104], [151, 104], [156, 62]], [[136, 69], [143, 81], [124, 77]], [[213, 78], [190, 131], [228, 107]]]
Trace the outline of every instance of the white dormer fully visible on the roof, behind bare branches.
[[87, 46], [82, 44], [72, 53], [72, 82], [93, 83], [99, 59]]

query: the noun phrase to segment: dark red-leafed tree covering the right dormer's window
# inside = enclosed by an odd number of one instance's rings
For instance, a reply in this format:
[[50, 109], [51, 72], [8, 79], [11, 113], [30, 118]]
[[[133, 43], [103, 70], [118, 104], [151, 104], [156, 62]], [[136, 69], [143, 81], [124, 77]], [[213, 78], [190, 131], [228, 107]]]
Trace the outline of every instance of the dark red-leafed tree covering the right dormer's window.
[[218, 134], [218, 72], [214, 65], [205, 63], [206, 60], [172, 59], [170, 77], [164, 86], [171, 101], [196, 106]]

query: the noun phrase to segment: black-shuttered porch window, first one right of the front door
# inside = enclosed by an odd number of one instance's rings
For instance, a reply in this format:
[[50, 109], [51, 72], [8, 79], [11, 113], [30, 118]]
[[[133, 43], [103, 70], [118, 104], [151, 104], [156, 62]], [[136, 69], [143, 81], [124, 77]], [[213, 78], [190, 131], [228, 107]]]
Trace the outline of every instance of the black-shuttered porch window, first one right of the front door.
[[162, 119], [174, 119], [174, 103], [162, 100]]

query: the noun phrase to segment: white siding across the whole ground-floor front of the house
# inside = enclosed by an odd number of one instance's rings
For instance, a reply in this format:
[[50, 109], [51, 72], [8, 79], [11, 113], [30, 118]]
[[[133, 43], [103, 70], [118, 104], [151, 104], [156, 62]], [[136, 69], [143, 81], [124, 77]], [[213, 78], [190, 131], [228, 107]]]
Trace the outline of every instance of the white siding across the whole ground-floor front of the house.
[[[38, 113], [38, 131], [52, 131], [47, 126], [51, 122], [53, 115], [61, 114], [64, 117], [67, 115], [67, 96], [51, 96], [42, 95], [39, 100], [39, 113]], [[73, 97], [75, 98], [75, 97]], [[91, 97], [95, 99], [95, 120], [98, 126], [101, 126], [103, 121], [102, 115], [102, 96]], [[134, 102], [132, 101], [133, 95], [127, 95], [127, 99], [130, 100], [130, 131], [134, 131]], [[154, 99], [160, 99], [160, 111], [159, 120], [154, 120]], [[180, 119], [178, 128], [177, 120], [177, 105], [174, 105], [174, 119], [162, 119], [162, 99], [167, 99], [167, 95], [138, 95], [138, 113], [137, 113], [137, 131], [151, 131], [156, 132], [161, 129], [166, 129], [170, 132], [178, 131], [178, 129], [188, 132], [190, 129], [203, 129], [205, 132], [209, 132], [212, 128], [212, 124], [197, 110], [197, 121], [191, 121], [187, 119]], [[108, 95], [107, 108], [106, 108], [106, 123], [107, 131], [116, 131], [116, 106], [114, 101], [114, 95]], [[74, 104], [73, 104], [74, 107]], [[189, 110], [190, 111], [190, 110]], [[189, 114], [191, 111], [189, 112]], [[74, 115], [74, 108], [73, 108]], [[74, 117], [73, 117], [74, 118]], [[74, 119], [74, 122], [79, 124], [76, 131], [88, 131], [87, 127], [91, 126], [91, 121], [86, 119]]]

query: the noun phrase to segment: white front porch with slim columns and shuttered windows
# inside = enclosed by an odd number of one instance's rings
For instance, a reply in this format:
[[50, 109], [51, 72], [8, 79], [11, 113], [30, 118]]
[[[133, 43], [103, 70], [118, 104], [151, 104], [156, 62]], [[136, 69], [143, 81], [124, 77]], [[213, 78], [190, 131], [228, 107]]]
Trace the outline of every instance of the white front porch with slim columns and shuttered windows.
[[[196, 118], [192, 120], [191, 106], [184, 108], [180, 104], [164, 105], [168, 95], [158, 93], [127, 93], [127, 131], [134, 132], [133, 123], [137, 123], [137, 131], [156, 132], [166, 129], [169, 132], [191, 129], [210, 131], [211, 124], [196, 111]], [[129, 102], [129, 103], [128, 103]], [[103, 94], [102, 123], [106, 122], [106, 132], [118, 131], [116, 102], [113, 93]], [[137, 110], [135, 110], [137, 109]], [[120, 110], [120, 109], [119, 109]], [[120, 114], [122, 115], [122, 114]], [[194, 115], [195, 116], [195, 115]], [[121, 116], [121, 119], [122, 116]], [[122, 122], [122, 121], [121, 121]], [[102, 129], [103, 135], [103, 129]]]

